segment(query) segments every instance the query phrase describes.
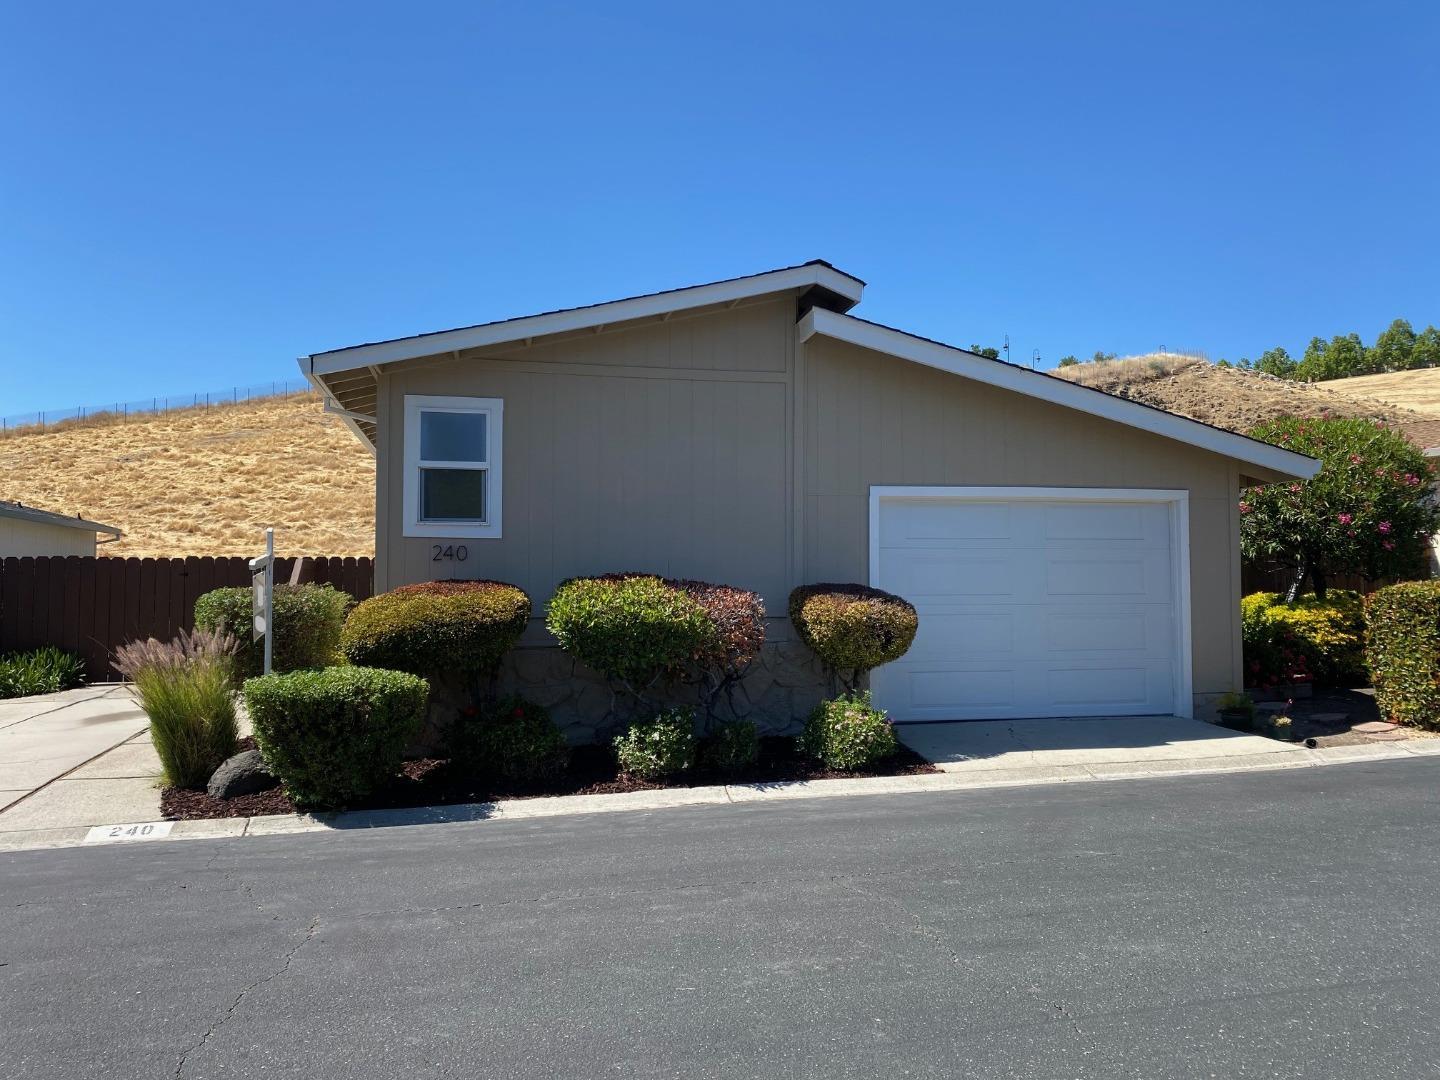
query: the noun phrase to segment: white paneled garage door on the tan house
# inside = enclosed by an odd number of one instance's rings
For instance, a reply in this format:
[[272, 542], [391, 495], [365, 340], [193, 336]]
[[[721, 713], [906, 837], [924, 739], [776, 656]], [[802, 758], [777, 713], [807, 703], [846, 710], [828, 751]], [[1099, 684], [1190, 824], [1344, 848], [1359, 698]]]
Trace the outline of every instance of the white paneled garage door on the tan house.
[[1174, 503], [873, 498], [873, 583], [920, 613], [871, 675], [893, 719], [1176, 711]]

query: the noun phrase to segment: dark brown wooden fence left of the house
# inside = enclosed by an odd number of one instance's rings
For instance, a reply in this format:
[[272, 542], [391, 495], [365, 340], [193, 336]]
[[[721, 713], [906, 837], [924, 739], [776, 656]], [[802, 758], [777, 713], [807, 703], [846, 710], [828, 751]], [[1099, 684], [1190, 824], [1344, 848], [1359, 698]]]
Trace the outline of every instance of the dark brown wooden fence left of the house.
[[[275, 560], [275, 582], [315, 582], [363, 600], [369, 559]], [[59, 645], [85, 658], [92, 681], [115, 678], [109, 654], [137, 638], [168, 641], [194, 625], [194, 602], [251, 583], [246, 560], [45, 557], [0, 562], [0, 652]]]

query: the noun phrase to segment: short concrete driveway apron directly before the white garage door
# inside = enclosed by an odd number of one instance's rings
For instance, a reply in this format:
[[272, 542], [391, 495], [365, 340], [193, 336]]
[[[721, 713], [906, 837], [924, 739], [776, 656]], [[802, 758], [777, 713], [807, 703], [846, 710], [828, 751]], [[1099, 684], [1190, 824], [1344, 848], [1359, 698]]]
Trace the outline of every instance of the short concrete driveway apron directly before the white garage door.
[[1083, 766], [1090, 772], [1175, 760], [1293, 753], [1292, 743], [1176, 716], [966, 720], [896, 724], [900, 740], [945, 772]]

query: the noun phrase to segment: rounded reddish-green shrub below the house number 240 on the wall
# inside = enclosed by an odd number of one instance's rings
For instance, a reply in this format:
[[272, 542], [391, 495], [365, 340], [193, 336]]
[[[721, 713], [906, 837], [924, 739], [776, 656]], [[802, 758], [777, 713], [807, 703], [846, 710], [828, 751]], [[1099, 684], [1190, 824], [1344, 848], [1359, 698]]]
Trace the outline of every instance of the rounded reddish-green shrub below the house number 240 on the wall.
[[530, 622], [530, 598], [504, 582], [425, 582], [372, 596], [346, 619], [340, 648], [351, 664], [488, 675]]

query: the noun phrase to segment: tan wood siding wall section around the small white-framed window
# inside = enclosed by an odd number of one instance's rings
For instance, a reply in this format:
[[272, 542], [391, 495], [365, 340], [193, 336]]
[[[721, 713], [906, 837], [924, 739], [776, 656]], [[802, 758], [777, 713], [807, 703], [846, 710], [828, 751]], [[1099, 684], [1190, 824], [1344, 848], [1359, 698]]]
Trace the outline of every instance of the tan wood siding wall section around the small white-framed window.
[[[783, 609], [792, 351], [786, 300], [387, 373], [377, 478], [382, 588], [498, 577], [524, 588], [539, 611], [564, 577], [654, 570], [756, 589]], [[504, 534], [456, 539], [469, 553], [464, 564], [432, 560], [439, 537], [402, 534], [395, 500], [406, 395], [504, 399]]]

